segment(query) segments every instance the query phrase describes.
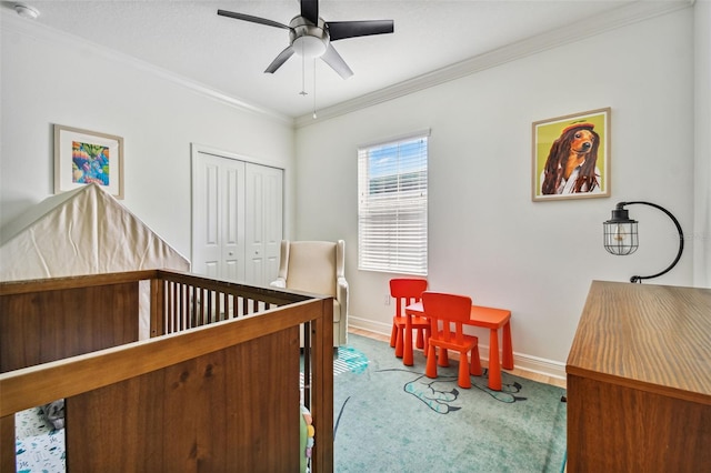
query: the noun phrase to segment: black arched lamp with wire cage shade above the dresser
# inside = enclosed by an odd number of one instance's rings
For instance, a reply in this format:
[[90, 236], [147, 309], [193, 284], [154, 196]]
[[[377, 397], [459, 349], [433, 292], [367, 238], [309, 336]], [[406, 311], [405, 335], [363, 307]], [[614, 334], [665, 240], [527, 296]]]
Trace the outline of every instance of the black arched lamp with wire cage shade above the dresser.
[[630, 278], [630, 282], [639, 282], [641, 283], [643, 279], [652, 279], [665, 274], [669, 272], [681, 258], [681, 253], [684, 251], [684, 233], [681, 231], [681, 225], [679, 221], [671, 214], [670, 211], [664, 209], [663, 207], [657, 205], [651, 202], [635, 201], [635, 202], [618, 202], [617, 207], [612, 211], [612, 218], [602, 224], [603, 228], [603, 238], [604, 238], [604, 249], [608, 252], [617, 255], [632, 254], [637, 251], [639, 246], [639, 239], [637, 234], [637, 220], [632, 220], [629, 217], [627, 209], [624, 205], [632, 205], [635, 203], [641, 203], [644, 205], [653, 207], [654, 209], [659, 209], [664, 212], [677, 225], [677, 230], [679, 231], [679, 251], [677, 252], [677, 258], [674, 261], [663, 271], [648, 275], [633, 275]]

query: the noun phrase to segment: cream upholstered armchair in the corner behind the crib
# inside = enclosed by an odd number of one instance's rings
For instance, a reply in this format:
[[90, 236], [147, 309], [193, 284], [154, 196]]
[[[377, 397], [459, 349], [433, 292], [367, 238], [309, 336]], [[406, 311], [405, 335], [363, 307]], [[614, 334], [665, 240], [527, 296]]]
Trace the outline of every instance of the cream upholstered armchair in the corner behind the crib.
[[348, 282], [343, 240], [281, 241], [279, 275], [273, 288], [333, 298], [333, 346], [348, 343]]

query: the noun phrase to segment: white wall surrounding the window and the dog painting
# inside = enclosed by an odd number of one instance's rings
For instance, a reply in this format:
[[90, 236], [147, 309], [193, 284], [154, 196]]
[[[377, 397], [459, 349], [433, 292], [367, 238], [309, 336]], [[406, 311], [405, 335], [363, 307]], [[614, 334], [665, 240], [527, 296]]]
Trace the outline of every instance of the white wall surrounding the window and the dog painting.
[[[393, 275], [357, 269], [357, 147], [431, 128], [430, 288], [511, 309], [518, 360], [562, 372], [590, 282], [650, 274], [675, 255], [673, 224], [642, 205], [629, 208], [638, 252], [608, 254], [614, 204], [652, 201], [693, 227], [692, 24], [685, 9], [299, 129], [297, 234], [346, 240], [351, 324], [389, 333], [393, 312]], [[603, 107], [612, 197], [532, 202], [531, 123]], [[652, 282], [692, 285], [692, 252]]]

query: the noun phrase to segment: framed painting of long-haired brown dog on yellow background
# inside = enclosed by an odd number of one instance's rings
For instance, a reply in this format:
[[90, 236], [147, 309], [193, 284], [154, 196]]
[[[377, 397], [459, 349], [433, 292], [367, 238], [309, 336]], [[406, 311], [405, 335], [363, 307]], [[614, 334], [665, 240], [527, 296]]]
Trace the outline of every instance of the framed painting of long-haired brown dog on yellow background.
[[610, 109], [533, 122], [534, 201], [610, 197]]

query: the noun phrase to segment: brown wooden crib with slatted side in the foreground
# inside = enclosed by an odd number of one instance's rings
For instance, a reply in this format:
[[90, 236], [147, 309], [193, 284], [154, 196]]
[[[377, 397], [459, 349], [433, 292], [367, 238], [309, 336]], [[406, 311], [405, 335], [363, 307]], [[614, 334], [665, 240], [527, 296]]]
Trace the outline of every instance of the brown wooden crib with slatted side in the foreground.
[[296, 472], [303, 323], [311, 471], [331, 472], [331, 298], [164, 270], [1, 282], [0, 471], [14, 413], [64, 399], [69, 472]]

